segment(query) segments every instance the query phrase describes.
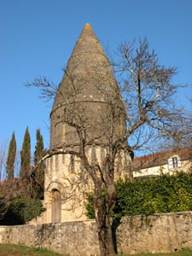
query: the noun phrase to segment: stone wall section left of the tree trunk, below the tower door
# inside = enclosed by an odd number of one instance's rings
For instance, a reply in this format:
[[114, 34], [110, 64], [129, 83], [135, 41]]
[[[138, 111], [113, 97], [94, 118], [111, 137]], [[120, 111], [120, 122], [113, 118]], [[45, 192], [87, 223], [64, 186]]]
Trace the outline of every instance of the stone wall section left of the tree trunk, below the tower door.
[[99, 255], [95, 221], [0, 226], [0, 243], [46, 247], [66, 255]]

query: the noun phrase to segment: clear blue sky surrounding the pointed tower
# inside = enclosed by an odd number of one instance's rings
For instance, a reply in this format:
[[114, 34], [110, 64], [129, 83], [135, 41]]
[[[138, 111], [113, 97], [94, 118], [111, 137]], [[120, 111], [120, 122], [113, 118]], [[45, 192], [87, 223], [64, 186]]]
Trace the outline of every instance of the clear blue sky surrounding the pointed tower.
[[111, 51], [146, 36], [161, 64], [178, 67], [174, 82], [192, 84], [191, 0], [0, 0], [0, 147], [15, 131], [20, 150], [28, 126], [32, 153], [37, 128], [49, 148], [51, 104], [24, 84], [40, 75], [59, 83], [86, 22]]

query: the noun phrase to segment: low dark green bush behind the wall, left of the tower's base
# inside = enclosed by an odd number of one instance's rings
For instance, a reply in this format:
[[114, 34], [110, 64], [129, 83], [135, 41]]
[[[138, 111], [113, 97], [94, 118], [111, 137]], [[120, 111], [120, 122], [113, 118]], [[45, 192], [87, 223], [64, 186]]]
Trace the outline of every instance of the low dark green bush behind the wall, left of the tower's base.
[[[3, 203], [3, 199], [1, 202]], [[0, 219], [0, 224], [26, 224], [26, 222], [32, 218], [38, 217], [41, 212], [44, 212], [44, 208], [40, 200], [17, 197], [9, 201], [7, 212], [4, 214], [3, 218]]]

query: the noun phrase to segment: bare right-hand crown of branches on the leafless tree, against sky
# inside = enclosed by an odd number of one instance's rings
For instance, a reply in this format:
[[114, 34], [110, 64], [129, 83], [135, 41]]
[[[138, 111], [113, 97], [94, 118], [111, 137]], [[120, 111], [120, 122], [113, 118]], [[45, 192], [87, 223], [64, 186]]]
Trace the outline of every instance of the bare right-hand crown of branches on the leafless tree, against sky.
[[183, 127], [183, 108], [177, 106], [177, 89], [172, 84], [176, 67], [160, 65], [147, 38], [131, 44], [119, 44], [113, 70], [119, 81], [127, 110], [127, 133], [132, 150], [160, 145], [164, 138], [177, 139]]

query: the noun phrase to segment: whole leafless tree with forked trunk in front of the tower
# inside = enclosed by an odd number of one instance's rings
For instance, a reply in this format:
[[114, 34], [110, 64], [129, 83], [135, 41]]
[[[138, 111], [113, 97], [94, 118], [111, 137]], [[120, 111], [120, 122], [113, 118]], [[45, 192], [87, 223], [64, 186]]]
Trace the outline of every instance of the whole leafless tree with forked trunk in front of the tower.
[[[53, 154], [71, 154], [84, 166], [74, 183], [78, 185], [88, 179], [93, 183], [101, 255], [117, 253], [113, 247], [109, 212], [116, 200], [114, 176], [118, 154], [131, 154], [138, 148], [145, 148], [154, 139], [172, 135], [174, 128], [181, 125], [180, 112], [174, 102], [179, 85], [171, 83], [177, 69], [161, 66], [154, 50], [149, 49], [147, 39], [140, 40], [138, 47], [136, 44], [120, 44], [116, 61], [113, 61], [113, 70], [119, 87], [116, 86], [116, 89], [111, 91], [97, 88], [98, 91], [102, 90], [105, 107], [100, 110], [96, 108], [96, 112], [92, 113], [94, 122], [90, 119], [88, 103], [79, 103], [78, 100], [86, 77], [77, 80], [73, 68], [68, 68], [65, 73], [65, 78], [71, 86], [70, 90], [60, 91], [60, 87], [49, 83], [49, 79], [45, 77], [26, 84], [28, 87], [40, 88], [41, 96], [46, 100], [55, 96], [55, 93], [60, 99], [63, 98], [64, 104], [52, 112], [52, 119], [55, 120], [54, 125], [65, 125], [65, 131], [69, 134], [68, 137], [71, 133], [74, 143], [72, 146], [66, 141], [64, 146], [52, 147], [45, 157]], [[98, 84], [96, 79], [103, 79], [103, 87], [112, 83], [102, 78], [101, 74], [94, 79], [95, 87]], [[122, 99], [125, 104], [121, 103]], [[116, 128], [120, 122], [121, 131]], [[90, 158], [92, 146], [105, 148], [102, 160]], [[68, 184], [70, 183], [71, 179]], [[102, 189], [106, 191], [104, 200]]]

